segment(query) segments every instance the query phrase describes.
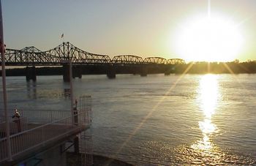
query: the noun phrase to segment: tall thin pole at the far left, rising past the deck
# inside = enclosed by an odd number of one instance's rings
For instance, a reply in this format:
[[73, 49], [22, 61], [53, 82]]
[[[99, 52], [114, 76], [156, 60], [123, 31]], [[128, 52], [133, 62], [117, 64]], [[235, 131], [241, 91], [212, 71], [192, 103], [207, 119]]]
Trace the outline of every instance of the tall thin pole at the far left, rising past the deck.
[[4, 57], [4, 31], [3, 31], [3, 19], [1, 14], [1, 0], [0, 0], [0, 49], [1, 49], [1, 78], [3, 86], [3, 98], [4, 98], [4, 117], [5, 117], [5, 129], [7, 133], [7, 153], [8, 158], [12, 160], [11, 143], [10, 143], [10, 124], [7, 111], [7, 91], [6, 91], [6, 74], [5, 74], [5, 57]]

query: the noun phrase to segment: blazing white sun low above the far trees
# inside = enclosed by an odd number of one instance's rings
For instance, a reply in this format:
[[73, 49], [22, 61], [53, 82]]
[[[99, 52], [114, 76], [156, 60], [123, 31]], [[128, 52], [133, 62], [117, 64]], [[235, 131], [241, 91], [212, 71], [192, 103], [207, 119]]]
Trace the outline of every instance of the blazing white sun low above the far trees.
[[233, 61], [241, 51], [238, 26], [221, 16], [196, 17], [176, 32], [176, 53], [186, 61]]

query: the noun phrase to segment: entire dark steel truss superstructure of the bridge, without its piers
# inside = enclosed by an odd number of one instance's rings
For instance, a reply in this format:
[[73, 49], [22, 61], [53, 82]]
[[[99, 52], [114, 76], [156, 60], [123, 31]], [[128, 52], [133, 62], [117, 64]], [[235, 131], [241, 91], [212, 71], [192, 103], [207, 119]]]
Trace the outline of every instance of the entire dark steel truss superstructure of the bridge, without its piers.
[[[75, 47], [70, 42], [63, 42], [56, 48], [41, 51], [37, 48], [26, 47], [21, 50], [7, 48], [5, 64], [7, 66], [59, 66], [61, 61], [72, 59], [74, 65], [132, 65], [132, 64], [185, 64], [183, 59], [164, 59], [161, 57], [148, 57], [122, 55], [110, 56], [88, 53]], [[1, 59], [0, 59], [1, 60]]]

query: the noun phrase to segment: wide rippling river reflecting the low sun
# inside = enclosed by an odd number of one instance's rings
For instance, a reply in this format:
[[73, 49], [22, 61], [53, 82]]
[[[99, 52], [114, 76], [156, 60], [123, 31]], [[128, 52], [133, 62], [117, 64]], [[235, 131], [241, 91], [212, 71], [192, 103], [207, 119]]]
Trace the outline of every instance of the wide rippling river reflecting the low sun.
[[[73, 86], [93, 97], [94, 154], [134, 165], [256, 165], [256, 75], [83, 75]], [[10, 109], [70, 107], [61, 76], [8, 77], [7, 89]]]

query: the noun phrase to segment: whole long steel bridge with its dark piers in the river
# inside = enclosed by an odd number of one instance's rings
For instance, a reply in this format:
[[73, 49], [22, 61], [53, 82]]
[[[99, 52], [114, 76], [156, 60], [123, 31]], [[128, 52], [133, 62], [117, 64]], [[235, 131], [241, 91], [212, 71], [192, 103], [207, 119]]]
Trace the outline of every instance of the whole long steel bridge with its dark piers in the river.
[[[75, 47], [70, 42], [63, 42], [56, 48], [42, 51], [33, 47], [20, 50], [7, 48], [5, 52], [7, 66], [26, 66], [26, 79], [36, 80], [36, 66], [62, 66], [64, 80], [69, 80], [69, 64], [64, 63], [71, 59], [75, 70], [73, 77], [81, 78], [85, 67], [105, 69], [108, 78], [116, 77], [116, 70], [132, 70], [133, 74], [147, 75], [148, 68], [161, 68], [174, 64], [185, 64], [183, 59], [164, 59], [161, 57], [148, 57], [121, 55], [110, 59], [108, 55], [89, 53]], [[0, 59], [1, 60], [1, 59]], [[138, 72], [138, 73], [137, 73]]]

